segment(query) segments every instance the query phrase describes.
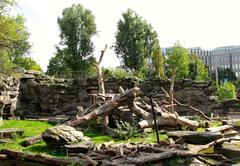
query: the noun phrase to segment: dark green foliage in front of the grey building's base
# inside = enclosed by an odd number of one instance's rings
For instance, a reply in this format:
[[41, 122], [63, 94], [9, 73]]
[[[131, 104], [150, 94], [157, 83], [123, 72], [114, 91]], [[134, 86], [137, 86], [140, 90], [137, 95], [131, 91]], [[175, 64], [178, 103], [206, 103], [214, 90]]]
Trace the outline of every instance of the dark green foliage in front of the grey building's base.
[[[216, 79], [215, 72], [212, 73], [212, 78]], [[218, 69], [218, 80], [221, 82], [224, 82], [227, 79], [227, 81], [234, 82], [237, 80], [237, 77], [231, 69]]]

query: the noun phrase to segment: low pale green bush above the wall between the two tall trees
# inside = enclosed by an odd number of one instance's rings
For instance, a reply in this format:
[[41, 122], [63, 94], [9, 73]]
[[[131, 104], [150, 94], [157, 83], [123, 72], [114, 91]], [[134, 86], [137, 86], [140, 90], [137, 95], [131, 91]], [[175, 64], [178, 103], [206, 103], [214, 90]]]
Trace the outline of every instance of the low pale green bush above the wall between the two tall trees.
[[131, 73], [127, 72], [124, 69], [119, 69], [119, 68], [103, 69], [103, 75], [105, 78], [116, 77], [116, 78], [120, 78], [120, 79], [132, 76]]

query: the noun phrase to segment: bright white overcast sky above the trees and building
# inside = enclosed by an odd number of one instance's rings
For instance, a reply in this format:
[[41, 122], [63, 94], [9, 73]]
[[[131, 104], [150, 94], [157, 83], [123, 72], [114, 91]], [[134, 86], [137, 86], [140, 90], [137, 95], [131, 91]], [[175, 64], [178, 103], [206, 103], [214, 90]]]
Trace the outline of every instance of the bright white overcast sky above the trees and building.
[[176, 41], [184, 47], [213, 49], [240, 45], [239, 0], [18, 0], [16, 13], [26, 19], [33, 45], [30, 56], [47, 69], [60, 41], [57, 17], [72, 4], [82, 4], [95, 15], [98, 35], [94, 56], [108, 44], [102, 66], [115, 67], [119, 60], [111, 46], [117, 22], [128, 8], [146, 19], [157, 31], [162, 48]]

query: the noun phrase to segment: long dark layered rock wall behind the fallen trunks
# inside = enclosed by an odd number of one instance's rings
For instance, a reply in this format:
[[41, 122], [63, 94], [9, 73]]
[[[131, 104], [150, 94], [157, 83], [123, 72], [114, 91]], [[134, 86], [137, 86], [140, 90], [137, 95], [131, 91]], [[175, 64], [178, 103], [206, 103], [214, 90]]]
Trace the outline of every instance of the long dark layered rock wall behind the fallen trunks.
[[[95, 78], [55, 79], [35, 71], [26, 72], [20, 79], [20, 86], [16, 80], [15, 82], [6, 80], [5, 84], [7, 82], [14, 86], [8, 85], [4, 87], [14, 88], [2, 90], [4, 94], [6, 92], [8, 94], [8, 97], [5, 95], [5, 98], [17, 101], [16, 104], [13, 104], [15, 108], [17, 107], [15, 115], [24, 118], [70, 118], [76, 116], [83, 108], [87, 108], [93, 103], [94, 97], [92, 94], [98, 92], [97, 80]], [[110, 78], [105, 80], [106, 93], [118, 93], [119, 86], [122, 86], [124, 89], [139, 86], [145, 95], [151, 95], [159, 102], [166, 102], [167, 98], [162, 87], [169, 91], [170, 85], [167, 81], [159, 78], [150, 78], [143, 82], [134, 78]], [[174, 88], [174, 96], [177, 100], [184, 104], [193, 105], [209, 115], [211, 112], [218, 113], [222, 111], [224, 106], [230, 108], [231, 111], [239, 109], [240, 104], [236, 104], [236, 102], [239, 103], [239, 100], [235, 101], [234, 107], [231, 104], [223, 105], [222, 103], [217, 103], [213, 96], [214, 89], [211, 87], [210, 82], [194, 82], [181, 79], [175, 82]], [[3, 94], [2, 91], [1, 95]], [[18, 97], [16, 98], [17, 95]], [[5, 101], [8, 101], [8, 99]], [[11, 106], [11, 111], [9, 112], [13, 114], [15, 108]], [[194, 114], [191, 109], [186, 107], [177, 106], [176, 110], [180, 115]]]

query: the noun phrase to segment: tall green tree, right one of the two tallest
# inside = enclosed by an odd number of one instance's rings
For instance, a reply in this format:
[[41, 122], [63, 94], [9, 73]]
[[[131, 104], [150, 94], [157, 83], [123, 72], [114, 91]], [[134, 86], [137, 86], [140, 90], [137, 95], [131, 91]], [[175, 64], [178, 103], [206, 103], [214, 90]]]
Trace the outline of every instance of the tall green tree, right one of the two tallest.
[[147, 57], [159, 47], [157, 32], [131, 9], [122, 14], [118, 22], [114, 50], [127, 69], [133, 73], [144, 72]]

